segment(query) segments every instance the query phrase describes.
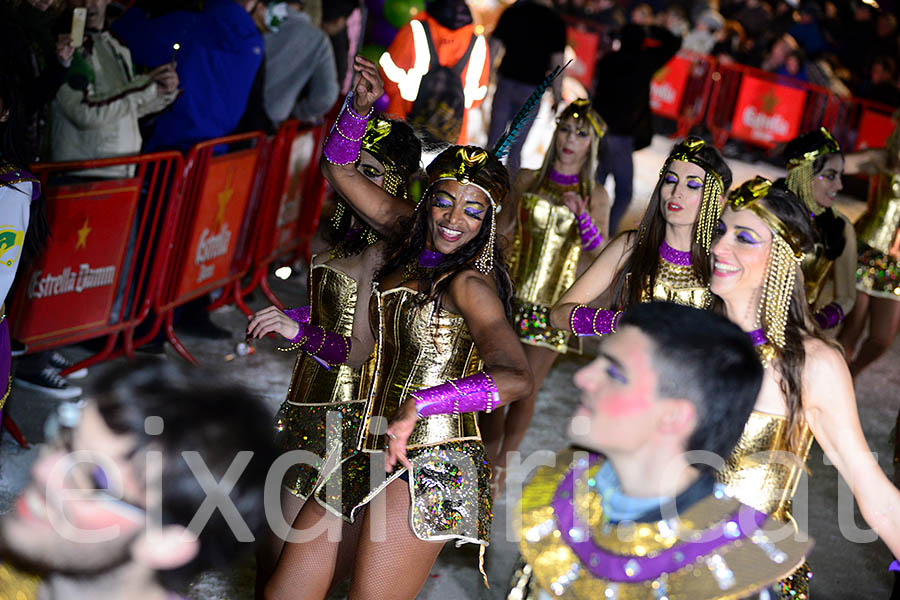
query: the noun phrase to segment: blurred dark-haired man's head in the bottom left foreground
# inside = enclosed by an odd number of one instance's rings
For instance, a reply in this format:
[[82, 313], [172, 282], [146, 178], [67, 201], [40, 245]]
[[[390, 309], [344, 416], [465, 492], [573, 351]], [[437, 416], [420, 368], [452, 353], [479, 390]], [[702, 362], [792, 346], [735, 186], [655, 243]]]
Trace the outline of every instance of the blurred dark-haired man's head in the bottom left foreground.
[[0, 597], [181, 598], [265, 526], [276, 454], [250, 392], [170, 363], [120, 365], [97, 392], [60, 406], [56, 439], [0, 520]]

